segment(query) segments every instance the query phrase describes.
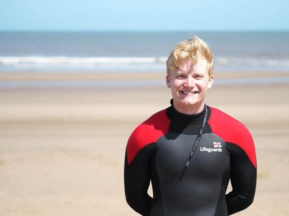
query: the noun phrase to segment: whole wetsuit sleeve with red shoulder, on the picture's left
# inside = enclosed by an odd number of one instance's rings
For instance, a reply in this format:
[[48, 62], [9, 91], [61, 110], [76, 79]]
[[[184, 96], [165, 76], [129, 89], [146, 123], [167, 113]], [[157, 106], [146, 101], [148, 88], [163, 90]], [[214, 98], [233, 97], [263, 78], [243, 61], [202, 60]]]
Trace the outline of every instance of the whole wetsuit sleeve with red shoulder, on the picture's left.
[[169, 123], [166, 110], [161, 110], [140, 124], [127, 141], [124, 161], [125, 198], [142, 215], [149, 215], [152, 203], [147, 190], [155, 142], [168, 132]]

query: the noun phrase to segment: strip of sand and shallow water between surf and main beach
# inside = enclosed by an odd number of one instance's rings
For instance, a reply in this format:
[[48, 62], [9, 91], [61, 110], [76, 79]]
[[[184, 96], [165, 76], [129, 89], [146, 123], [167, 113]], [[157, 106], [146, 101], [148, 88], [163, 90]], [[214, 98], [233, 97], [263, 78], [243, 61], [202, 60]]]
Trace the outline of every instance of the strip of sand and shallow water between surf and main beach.
[[[215, 72], [214, 85], [289, 83], [289, 72]], [[0, 89], [14, 88], [143, 88], [165, 87], [165, 72], [3, 72]]]

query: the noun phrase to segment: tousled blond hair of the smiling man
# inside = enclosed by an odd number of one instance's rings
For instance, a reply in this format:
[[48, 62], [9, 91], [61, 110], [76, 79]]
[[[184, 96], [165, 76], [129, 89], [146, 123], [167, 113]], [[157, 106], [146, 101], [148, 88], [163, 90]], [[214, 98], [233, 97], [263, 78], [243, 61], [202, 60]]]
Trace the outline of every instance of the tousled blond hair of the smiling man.
[[208, 74], [213, 74], [213, 55], [210, 47], [201, 38], [194, 36], [191, 39], [178, 42], [171, 51], [167, 60], [167, 74], [170, 75], [172, 70], [180, 68], [182, 60], [191, 59], [197, 64], [200, 59], [205, 59], [208, 66]]

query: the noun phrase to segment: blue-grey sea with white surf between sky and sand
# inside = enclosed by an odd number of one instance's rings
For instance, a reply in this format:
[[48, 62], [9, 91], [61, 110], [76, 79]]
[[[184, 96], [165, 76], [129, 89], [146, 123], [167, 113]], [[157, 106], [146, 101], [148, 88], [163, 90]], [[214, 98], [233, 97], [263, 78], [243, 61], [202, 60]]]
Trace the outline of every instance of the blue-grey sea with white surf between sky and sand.
[[193, 35], [211, 47], [215, 72], [289, 71], [289, 32], [0, 32], [0, 72], [164, 72]]

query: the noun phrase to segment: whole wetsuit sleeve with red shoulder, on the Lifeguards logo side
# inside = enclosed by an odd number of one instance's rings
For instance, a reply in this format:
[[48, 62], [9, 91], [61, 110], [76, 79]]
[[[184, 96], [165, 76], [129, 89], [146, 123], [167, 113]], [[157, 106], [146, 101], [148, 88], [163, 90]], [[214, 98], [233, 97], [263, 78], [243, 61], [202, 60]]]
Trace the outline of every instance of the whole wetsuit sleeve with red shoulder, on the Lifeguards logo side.
[[212, 132], [226, 142], [230, 153], [232, 191], [226, 195], [228, 215], [248, 207], [256, 188], [256, 154], [252, 136], [238, 120], [210, 107]]

